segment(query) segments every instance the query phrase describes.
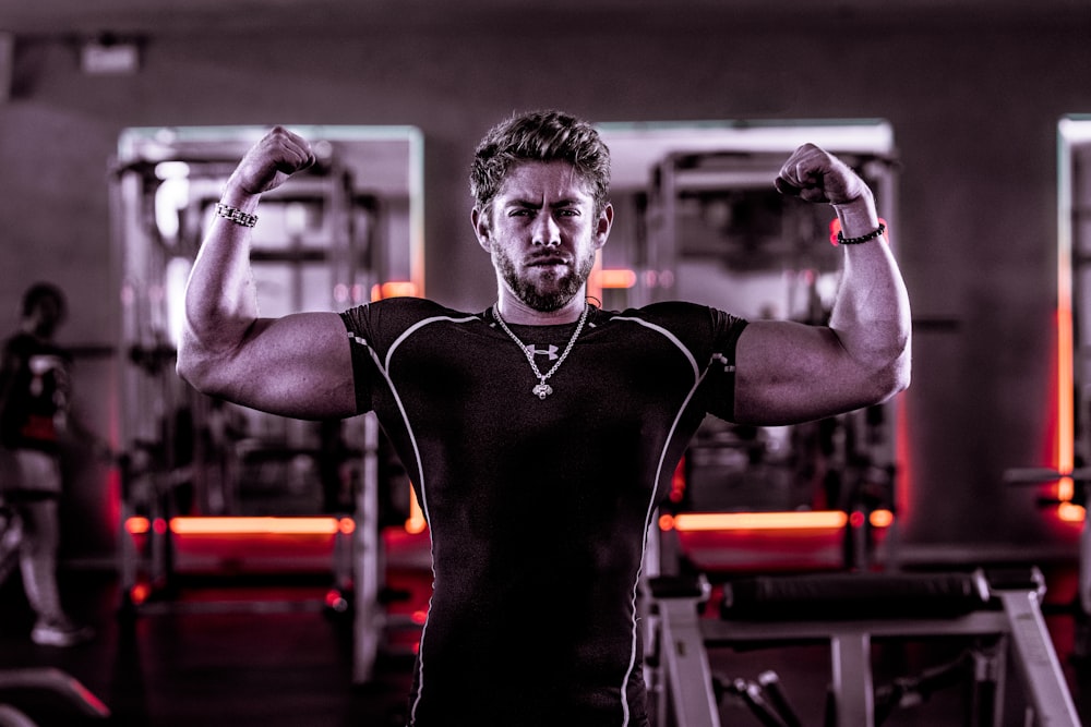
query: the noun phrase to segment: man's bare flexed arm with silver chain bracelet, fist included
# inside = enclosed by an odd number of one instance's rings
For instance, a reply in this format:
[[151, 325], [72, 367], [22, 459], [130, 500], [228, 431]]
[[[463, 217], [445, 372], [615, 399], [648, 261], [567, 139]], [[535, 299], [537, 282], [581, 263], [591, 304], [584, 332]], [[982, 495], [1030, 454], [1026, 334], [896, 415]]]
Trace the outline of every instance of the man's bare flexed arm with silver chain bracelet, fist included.
[[228, 179], [220, 213], [185, 289], [178, 374], [204, 393], [300, 419], [356, 409], [348, 338], [336, 313], [259, 317], [250, 267], [251, 229], [262, 193], [307, 169], [305, 140], [277, 126], [247, 152]]

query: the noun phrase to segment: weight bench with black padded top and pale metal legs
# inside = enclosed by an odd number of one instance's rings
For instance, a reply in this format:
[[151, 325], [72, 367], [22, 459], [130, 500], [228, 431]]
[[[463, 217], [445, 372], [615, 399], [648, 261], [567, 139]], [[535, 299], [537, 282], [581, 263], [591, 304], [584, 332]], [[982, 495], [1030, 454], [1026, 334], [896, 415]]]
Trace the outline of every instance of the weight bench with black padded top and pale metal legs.
[[[720, 727], [708, 664], [710, 646], [768, 647], [826, 641], [836, 727], [874, 727], [872, 638], [996, 637], [991, 674], [997, 686], [986, 714], [1000, 725], [1004, 653], [1019, 665], [1040, 727], [1079, 727], [1060, 664], [1041, 613], [1044, 579], [1020, 574], [819, 573], [758, 577], [724, 586], [720, 618], [700, 616], [711, 589], [697, 579], [648, 583], [658, 622], [658, 665], [674, 724]], [[770, 724], [781, 724], [770, 722]], [[662, 726], [661, 726], [662, 727]]]

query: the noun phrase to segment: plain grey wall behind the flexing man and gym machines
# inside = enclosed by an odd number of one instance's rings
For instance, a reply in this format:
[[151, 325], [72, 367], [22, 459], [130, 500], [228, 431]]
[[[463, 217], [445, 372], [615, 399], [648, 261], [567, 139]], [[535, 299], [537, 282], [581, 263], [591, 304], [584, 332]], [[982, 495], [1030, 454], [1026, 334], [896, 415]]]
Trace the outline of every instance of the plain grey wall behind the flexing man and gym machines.
[[[630, 19], [632, 20], [632, 19]], [[662, 19], [660, 19], [662, 20]], [[495, 292], [468, 221], [465, 171], [514, 109], [595, 121], [882, 118], [901, 159], [898, 238], [918, 318], [901, 536], [922, 549], [1067, 548], [1005, 469], [1047, 461], [1056, 304], [1056, 125], [1091, 112], [1091, 15], [465, 26], [149, 35], [140, 73], [88, 76], [61, 38], [16, 38], [0, 105], [0, 313], [24, 284], [71, 294], [63, 340], [109, 344], [107, 168], [120, 131], [159, 124], [412, 124], [425, 147], [430, 296]], [[3, 320], [0, 317], [0, 320]], [[79, 405], [112, 421], [108, 359], [81, 364]], [[74, 481], [85, 549], [111, 547], [107, 469]], [[79, 510], [79, 512], [76, 512]], [[89, 524], [88, 524], [89, 523]]]

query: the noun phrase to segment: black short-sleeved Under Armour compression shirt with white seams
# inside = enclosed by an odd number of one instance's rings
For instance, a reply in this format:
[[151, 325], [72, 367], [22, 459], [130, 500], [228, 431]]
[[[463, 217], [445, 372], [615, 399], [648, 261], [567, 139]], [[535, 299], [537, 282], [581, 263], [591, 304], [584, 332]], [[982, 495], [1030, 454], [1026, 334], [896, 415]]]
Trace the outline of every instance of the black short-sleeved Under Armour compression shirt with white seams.
[[[491, 310], [392, 299], [343, 317], [359, 411], [375, 411], [431, 533], [410, 725], [646, 725], [646, 533], [705, 413], [732, 416], [745, 322], [592, 308], [540, 399]], [[575, 324], [511, 328], [546, 373]]]

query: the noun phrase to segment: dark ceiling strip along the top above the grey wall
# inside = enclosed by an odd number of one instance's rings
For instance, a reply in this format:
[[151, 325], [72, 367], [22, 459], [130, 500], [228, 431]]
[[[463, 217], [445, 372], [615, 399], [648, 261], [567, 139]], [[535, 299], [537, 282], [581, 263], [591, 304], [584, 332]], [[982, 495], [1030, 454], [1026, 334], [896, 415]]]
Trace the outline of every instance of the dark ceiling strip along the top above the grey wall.
[[1091, 19], [1091, 0], [0, 0], [0, 32], [28, 36], [442, 28], [525, 17], [606, 28], [717, 19], [1071, 22]]

